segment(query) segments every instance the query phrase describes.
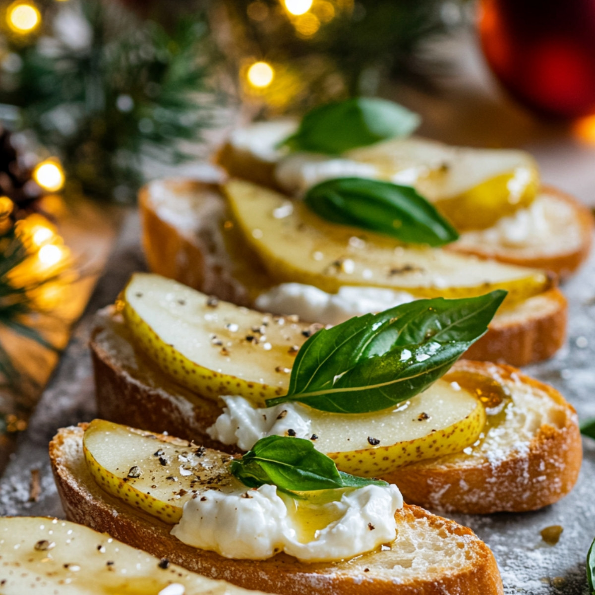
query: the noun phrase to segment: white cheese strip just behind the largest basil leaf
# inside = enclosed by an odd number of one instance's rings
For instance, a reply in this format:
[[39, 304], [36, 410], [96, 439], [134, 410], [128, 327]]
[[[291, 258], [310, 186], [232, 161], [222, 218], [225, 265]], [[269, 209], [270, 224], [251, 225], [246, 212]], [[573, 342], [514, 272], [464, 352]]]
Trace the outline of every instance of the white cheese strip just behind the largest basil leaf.
[[256, 298], [256, 308], [272, 314], [297, 314], [303, 320], [339, 324], [368, 312], [381, 312], [415, 299], [383, 287], [343, 286], [327, 293], [303, 283], [281, 283]]

